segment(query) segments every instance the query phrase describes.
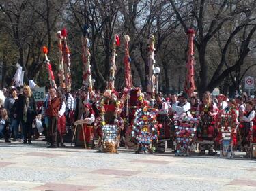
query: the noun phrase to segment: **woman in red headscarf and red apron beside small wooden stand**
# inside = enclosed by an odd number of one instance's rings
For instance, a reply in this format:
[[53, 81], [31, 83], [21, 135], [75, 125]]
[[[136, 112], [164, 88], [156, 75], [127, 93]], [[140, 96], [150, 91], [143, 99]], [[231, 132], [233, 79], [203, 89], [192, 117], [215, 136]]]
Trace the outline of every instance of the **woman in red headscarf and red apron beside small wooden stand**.
[[[85, 142], [87, 145], [87, 148], [90, 149], [91, 146], [89, 145], [90, 141], [94, 137], [93, 133], [93, 128], [94, 128], [94, 110], [91, 108], [91, 105], [89, 103], [84, 105], [85, 107], [85, 112], [82, 114], [81, 119], [74, 122], [74, 125], [76, 124], [82, 124], [83, 125], [83, 130], [85, 132]], [[79, 135], [79, 139], [82, 141], [83, 140], [83, 133]]]

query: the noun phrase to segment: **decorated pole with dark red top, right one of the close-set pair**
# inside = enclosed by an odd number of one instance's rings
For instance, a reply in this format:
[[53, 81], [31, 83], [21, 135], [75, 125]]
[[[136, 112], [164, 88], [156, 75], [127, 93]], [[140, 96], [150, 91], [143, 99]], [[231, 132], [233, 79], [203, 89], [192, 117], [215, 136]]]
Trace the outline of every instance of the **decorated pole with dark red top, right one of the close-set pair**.
[[63, 38], [61, 42], [61, 52], [62, 52], [62, 59], [63, 59], [63, 69], [64, 69], [64, 76], [65, 76], [65, 85], [66, 88], [71, 88], [71, 73], [70, 73], [70, 50], [67, 44], [67, 35], [68, 31], [66, 29], [61, 30], [61, 36]]

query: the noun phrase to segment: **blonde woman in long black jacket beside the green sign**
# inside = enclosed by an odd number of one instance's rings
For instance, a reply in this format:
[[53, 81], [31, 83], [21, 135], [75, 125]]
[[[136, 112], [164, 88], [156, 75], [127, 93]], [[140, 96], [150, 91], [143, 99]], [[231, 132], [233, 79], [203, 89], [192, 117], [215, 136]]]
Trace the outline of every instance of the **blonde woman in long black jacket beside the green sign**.
[[31, 144], [32, 124], [35, 120], [36, 104], [29, 86], [24, 86], [23, 94], [20, 94], [16, 102], [16, 114], [23, 131], [23, 144]]

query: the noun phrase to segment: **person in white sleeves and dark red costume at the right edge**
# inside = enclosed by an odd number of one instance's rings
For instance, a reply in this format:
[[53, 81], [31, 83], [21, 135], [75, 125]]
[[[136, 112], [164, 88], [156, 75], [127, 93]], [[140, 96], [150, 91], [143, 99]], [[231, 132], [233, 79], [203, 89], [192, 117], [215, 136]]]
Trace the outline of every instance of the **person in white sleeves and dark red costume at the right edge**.
[[[246, 150], [246, 156], [248, 157], [250, 154], [250, 142], [253, 141], [256, 142], [256, 120], [255, 120], [255, 110], [253, 109], [255, 105], [252, 101], [248, 101], [246, 103], [246, 115], [240, 116], [240, 122], [243, 124], [242, 128], [240, 128], [240, 135], [242, 139], [242, 147], [245, 147]], [[253, 130], [253, 134], [250, 136], [250, 131]]]

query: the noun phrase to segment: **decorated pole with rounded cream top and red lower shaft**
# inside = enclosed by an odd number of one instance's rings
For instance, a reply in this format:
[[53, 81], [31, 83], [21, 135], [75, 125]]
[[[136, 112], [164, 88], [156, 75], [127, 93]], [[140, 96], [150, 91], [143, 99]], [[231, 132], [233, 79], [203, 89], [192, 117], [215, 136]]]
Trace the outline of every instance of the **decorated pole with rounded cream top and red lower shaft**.
[[124, 56], [124, 65], [125, 65], [125, 77], [126, 77], [126, 88], [132, 88], [132, 71], [130, 68], [130, 54], [129, 54], [129, 41], [130, 37], [129, 35], [124, 35], [124, 39], [126, 41], [125, 44], [125, 56]]

